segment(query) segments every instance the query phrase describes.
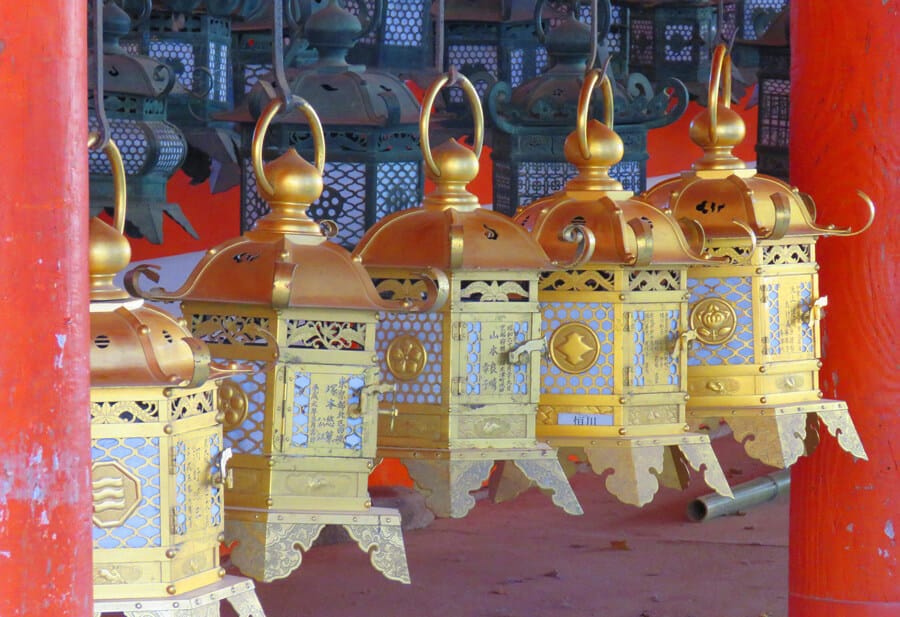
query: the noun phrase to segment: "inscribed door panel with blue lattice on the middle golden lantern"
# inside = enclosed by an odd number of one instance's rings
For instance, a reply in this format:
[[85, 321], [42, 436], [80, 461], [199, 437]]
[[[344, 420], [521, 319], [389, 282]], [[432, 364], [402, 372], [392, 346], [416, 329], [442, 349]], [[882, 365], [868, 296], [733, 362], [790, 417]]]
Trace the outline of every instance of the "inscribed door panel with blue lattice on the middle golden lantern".
[[460, 394], [472, 397], [527, 396], [530, 363], [511, 364], [508, 354], [530, 337], [528, 321], [464, 322]]

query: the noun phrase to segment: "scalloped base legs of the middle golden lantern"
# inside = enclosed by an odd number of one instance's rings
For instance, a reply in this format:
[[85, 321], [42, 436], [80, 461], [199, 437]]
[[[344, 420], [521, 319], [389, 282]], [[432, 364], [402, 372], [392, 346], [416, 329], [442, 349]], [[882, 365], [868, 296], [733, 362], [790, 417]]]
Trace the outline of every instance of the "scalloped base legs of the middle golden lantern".
[[[415, 458], [410, 458], [410, 454], [393, 452], [391, 448], [379, 449], [379, 455], [400, 458], [406, 465], [416, 488], [425, 495], [425, 505], [435, 516], [461, 518], [468, 514], [475, 507], [472, 491], [489, 479], [494, 463], [498, 466], [498, 480], [492, 482], [491, 488], [495, 499], [515, 497], [533, 482], [552, 491], [553, 503], [567, 513], [584, 513], [554, 450], [546, 446], [522, 450], [416, 450]], [[504, 479], [507, 474], [515, 476]]]

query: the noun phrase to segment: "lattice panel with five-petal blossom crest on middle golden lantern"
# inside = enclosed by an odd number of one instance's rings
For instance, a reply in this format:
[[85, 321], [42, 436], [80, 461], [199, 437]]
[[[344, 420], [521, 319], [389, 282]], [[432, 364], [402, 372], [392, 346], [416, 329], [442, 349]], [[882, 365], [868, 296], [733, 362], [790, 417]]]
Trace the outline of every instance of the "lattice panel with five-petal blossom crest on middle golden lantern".
[[382, 373], [396, 384], [398, 403], [440, 405], [444, 366], [444, 316], [381, 313], [375, 348]]

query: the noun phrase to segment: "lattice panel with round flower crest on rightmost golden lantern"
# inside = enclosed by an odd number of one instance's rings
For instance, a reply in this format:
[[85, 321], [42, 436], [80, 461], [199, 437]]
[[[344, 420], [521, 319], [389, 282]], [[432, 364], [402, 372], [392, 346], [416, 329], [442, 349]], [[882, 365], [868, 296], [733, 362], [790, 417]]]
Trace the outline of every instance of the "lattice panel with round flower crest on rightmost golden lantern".
[[[688, 279], [691, 327], [688, 366], [752, 364], [753, 301], [750, 279]], [[702, 304], [701, 304], [702, 303]]]

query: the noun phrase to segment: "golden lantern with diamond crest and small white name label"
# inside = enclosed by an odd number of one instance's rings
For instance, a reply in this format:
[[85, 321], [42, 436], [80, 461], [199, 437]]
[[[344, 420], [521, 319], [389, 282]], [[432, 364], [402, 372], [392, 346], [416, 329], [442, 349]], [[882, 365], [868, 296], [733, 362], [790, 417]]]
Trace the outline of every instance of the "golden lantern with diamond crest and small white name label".
[[[588, 122], [598, 81], [605, 124]], [[709, 437], [689, 432], [685, 418], [687, 270], [716, 260], [702, 254], [700, 234], [685, 237], [675, 219], [610, 177], [624, 152], [612, 125], [612, 85], [592, 70], [565, 143], [578, 175], [516, 217], [551, 259], [577, 257], [575, 267], [545, 272], [539, 282], [549, 353], [537, 436], [564, 459], [583, 452], [596, 473], [613, 469], [606, 487], [625, 503], [646, 504], [660, 480], [684, 488], [688, 466], [731, 496]], [[582, 256], [565, 241], [573, 223], [594, 239]]]

